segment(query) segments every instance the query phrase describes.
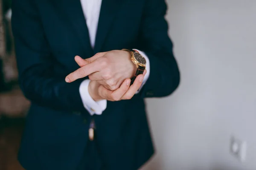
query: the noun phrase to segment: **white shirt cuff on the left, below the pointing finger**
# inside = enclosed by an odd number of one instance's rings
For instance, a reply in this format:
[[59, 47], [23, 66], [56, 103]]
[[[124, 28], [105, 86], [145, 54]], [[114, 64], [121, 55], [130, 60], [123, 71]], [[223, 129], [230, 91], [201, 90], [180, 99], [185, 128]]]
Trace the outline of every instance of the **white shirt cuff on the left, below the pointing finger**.
[[90, 79], [85, 79], [79, 86], [79, 93], [84, 105], [84, 108], [90, 113], [90, 115], [101, 115], [107, 108], [107, 100], [94, 101], [88, 91]]

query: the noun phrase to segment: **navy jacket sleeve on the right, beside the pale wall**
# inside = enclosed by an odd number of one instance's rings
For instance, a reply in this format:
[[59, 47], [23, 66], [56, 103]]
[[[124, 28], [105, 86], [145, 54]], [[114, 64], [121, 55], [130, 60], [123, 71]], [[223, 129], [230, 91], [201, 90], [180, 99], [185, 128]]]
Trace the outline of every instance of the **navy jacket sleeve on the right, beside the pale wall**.
[[140, 94], [161, 97], [172, 94], [180, 82], [180, 73], [168, 36], [164, 0], [146, 0], [140, 27], [141, 51], [150, 61], [150, 74]]

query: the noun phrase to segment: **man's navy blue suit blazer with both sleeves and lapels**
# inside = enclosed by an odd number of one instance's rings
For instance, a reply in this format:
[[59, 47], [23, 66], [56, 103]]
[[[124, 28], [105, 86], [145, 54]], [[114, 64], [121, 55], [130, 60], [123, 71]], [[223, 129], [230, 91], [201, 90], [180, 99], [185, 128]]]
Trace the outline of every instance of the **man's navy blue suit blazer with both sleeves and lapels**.
[[[20, 87], [32, 102], [18, 156], [23, 167], [75, 170], [92, 117], [106, 169], [133, 170], [144, 164], [154, 153], [144, 98], [167, 96], [180, 81], [165, 1], [102, 0], [93, 49], [80, 0], [13, 0], [12, 12]], [[122, 48], [147, 54], [148, 81], [132, 99], [108, 101], [102, 115], [90, 116], [79, 94], [87, 77], [64, 81], [79, 68], [74, 57]]]

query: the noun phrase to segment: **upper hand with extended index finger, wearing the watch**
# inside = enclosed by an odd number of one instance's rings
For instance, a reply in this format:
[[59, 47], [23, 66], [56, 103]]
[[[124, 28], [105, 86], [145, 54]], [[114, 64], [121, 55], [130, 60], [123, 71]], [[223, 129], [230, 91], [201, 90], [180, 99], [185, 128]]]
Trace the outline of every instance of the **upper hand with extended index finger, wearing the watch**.
[[66, 82], [89, 76], [90, 80], [96, 80], [105, 88], [114, 91], [136, 72], [136, 65], [131, 61], [131, 54], [128, 51], [102, 52], [87, 59], [76, 56], [75, 60], [81, 68], [67, 75]]

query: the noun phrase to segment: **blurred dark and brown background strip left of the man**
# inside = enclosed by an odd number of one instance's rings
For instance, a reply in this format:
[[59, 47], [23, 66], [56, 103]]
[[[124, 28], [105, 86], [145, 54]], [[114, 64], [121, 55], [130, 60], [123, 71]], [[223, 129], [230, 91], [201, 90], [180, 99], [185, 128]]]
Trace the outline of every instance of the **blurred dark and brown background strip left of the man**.
[[10, 7], [11, 0], [0, 0], [0, 170], [23, 170], [17, 151], [30, 103], [17, 82]]

